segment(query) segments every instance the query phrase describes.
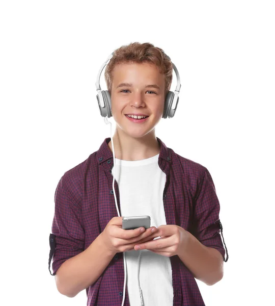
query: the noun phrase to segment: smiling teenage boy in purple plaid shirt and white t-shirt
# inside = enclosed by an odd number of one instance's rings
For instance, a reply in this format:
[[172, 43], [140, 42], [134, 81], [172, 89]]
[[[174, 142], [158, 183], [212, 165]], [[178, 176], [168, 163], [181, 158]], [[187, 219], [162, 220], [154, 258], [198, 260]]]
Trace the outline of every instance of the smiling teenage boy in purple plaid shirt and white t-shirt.
[[146, 306], [205, 305], [195, 278], [213, 285], [223, 277], [227, 260], [212, 177], [207, 168], [176, 154], [155, 135], [172, 70], [162, 49], [138, 42], [117, 49], [105, 69], [116, 121], [120, 215], [149, 215], [152, 226], [122, 229], [112, 186], [111, 138], [65, 172], [54, 194], [52, 275], [58, 291], [68, 297], [86, 289], [87, 305], [121, 305], [123, 253], [126, 306], [140, 304], [139, 252]]

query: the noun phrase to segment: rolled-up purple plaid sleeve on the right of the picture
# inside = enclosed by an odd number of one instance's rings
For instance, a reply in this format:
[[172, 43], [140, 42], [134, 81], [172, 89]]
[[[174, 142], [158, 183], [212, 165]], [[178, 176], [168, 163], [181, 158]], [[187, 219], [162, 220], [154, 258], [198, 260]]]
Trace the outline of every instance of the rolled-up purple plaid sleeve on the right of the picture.
[[203, 245], [221, 252], [225, 260], [225, 248], [220, 235], [219, 200], [212, 177], [208, 169], [204, 169], [194, 200], [194, 236]]

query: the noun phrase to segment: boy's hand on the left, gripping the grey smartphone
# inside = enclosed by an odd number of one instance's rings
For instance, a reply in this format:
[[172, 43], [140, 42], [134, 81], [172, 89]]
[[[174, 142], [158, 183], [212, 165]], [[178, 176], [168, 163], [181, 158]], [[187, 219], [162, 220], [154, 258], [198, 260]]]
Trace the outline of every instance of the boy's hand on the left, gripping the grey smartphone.
[[[105, 246], [114, 254], [132, 250], [136, 244], [153, 240], [155, 237], [159, 236], [155, 226], [151, 226], [147, 229], [138, 227], [134, 230], [123, 230], [122, 218], [123, 217], [112, 218], [100, 234]], [[144, 228], [145, 231], [141, 232], [141, 228]], [[151, 232], [152, 228], [154, 228], [154, 232]]]

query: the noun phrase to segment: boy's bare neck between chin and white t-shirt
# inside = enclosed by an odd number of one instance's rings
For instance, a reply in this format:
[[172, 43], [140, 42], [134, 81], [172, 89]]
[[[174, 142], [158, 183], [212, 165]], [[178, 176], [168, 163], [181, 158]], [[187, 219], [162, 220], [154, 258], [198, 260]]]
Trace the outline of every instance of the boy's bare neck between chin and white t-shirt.
[[[133, 138], [125, 133], [119, 133], [116, 129], [114, 137], [115, 157], [125, 161], [137, 161], [153, 157], [159, 154], [160, 144], [155, 136], [155, 129], [140, 138]], [[113, 152], [112, 141], [108, 143]]]

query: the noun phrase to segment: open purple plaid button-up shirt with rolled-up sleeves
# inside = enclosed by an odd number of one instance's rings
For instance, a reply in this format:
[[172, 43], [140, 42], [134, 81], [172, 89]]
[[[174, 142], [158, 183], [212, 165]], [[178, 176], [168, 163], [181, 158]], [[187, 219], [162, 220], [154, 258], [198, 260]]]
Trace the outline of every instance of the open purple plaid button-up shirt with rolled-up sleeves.
[[[55, 210], [50, 234], [49, 269], [53, 274], [69, 258], [84, 251], [117, 215], [113, 189], [113, 153], [105, 138], [99, 150], [66, 171], [54, 194]], [[167, 224], [176, 224], [193, 234], [203, 245], [217, 249], [225, 260], [220, 235], [219, 201], [212, 177], [204, 166], [183, 158], [158, 137], [158, 165], [166, 173], [163, 206]], [[115, 181], [118, 207], [120, 198]], [[136, 194], [136, 196], [139, 196]], [[222, 233], [223, 234], [223, 233]], [[228, 259], [228, 254], [227, 254]], [[205, 306], [197, 282], [180, 258], [170, 257], [174, 306]], [[88, 306], [118, 306], [124, 285], [123, 253], [118, 252], [97, 281], [86, 289]], [[126, 286], [124, 305], [129, 306]]]

